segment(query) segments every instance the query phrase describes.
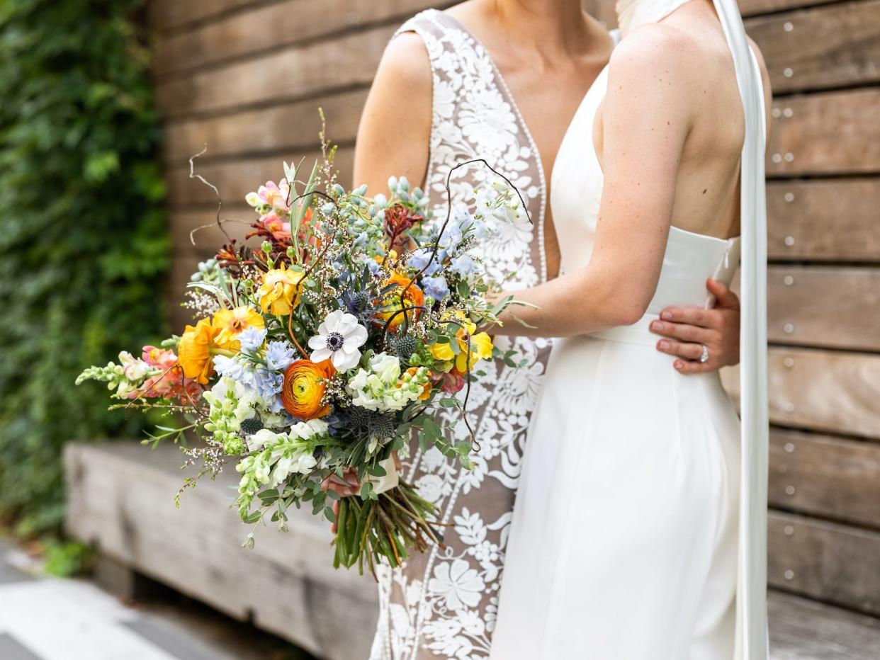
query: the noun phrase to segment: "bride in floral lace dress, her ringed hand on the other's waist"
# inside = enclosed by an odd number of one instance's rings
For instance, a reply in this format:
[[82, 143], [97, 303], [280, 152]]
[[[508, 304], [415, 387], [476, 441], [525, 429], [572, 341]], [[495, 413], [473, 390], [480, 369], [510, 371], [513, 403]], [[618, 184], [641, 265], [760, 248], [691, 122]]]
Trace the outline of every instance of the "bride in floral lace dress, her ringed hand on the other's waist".
[[[545, 48], [554, 34], [559, 38], [549, 42], [557, 45]], [[510, 289], [552, 279], [559, 246], [546, 174], [612, 45], [578, 0], [472, 0], [422, 12], [400, 28], [379, 65], [357, 140], [356, 183], [380, 192], [390, 175], [406, 175], [425, 188], [443, 217], [451, 167], [486, 158], [517, 186], [532, 219], [484, 246], [489, 268]], [[468, 202], [489, 174], [479, 165], [458, 170], [453, 203]], [[713, 292], [722, 304], [699, 317], [689, 309], [668, 311], [662, 350], [678, 356], [674, 367], [682, 373], [737, 363], [737, 298], [722, 285]], [[498, 338], [499, 348], [515, 349], [529, 366], [490, 363], [488, 378], [473, 388], [469, 414], [481, 445], [473, 471], [436, 450], [422, 453], [417, 444], [405, 458], [402, 476], [436, 502], [450, 526], [445, 549], [414, 554], [403, 570], [381, 572], [371, 660], [488, 657], [526, 429], [550, 343]], [[708, 363], [695, 361], [702, 345]]]

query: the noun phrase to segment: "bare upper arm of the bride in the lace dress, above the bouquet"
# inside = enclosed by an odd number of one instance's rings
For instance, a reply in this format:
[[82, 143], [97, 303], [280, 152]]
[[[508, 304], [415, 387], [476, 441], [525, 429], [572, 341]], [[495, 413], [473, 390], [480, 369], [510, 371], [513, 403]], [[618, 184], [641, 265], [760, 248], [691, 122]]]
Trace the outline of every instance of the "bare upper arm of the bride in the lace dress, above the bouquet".
[[392, 39], [379, 62], [357, 130], [354, 185], [370, 195], [388, 193], [388, 178], [421, 186], [428, 168], [432, 80], [422, 38]]

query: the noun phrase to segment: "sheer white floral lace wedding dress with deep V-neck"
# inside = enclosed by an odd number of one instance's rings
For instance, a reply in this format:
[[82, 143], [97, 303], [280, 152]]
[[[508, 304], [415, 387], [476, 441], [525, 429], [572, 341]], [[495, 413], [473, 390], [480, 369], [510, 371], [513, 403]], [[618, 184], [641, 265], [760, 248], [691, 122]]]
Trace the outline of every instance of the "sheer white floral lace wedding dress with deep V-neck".
[[[546, 281], [546, 186], [539, 153], [507, 85], [485, 48], [455, 18], [423, 11], [398, 33], [419, 34], [433, 71], [433, 125], [426, 192], [436, 218], [446, 214], [445, 182], [451, 167], [485, 158], [523, 194], [532, 223], [510, 225], [482, 248], [496, 281], [525, 289]], [[452, 202], [494, 175], [481, 165], [453, 174]], [[378, 631], [370, 660], [460, 660], [488, 657], [525, 431], [537, 399], [549, 341], [497, 338], [530, 366], [485, 363], [468, 403], [480, 442], [472, 471], [436, 449], [405, 460], [401, 477], [441, 510], [446, 548], [414, 553], [402, 570], [381, 568]], [[448, 413], [450, 421], [457, 412]], [[455, 439], [466, 439], [458, 423]]]

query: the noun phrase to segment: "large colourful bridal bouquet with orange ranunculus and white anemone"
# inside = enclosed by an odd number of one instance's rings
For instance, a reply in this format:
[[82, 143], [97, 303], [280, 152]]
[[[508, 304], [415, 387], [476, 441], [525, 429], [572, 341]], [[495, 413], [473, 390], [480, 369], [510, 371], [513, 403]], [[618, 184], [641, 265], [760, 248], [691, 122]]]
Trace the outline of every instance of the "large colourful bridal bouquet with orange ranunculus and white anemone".
[[[247, 524], [286, 530], [290, 507], [311, 504], [336, 524], [334, 565], [363, 572], [442, 545], [434, 505], [399, 478], [395, 456], [414, 432], [422, 449], [470, 465], [472, 443], [448, 442], [434, 413], [459, 408], [467, 424], [470, 381], [498, 352], [477, 328], [510, 304], [486, 302], [496, 283], [477, 244], [523, 217], [510, 187], [492, 184], [473, 209], [433, 222], [406, 179], [389, 180], [390, 198], [368, 197], [336, 183], [332, 158], [306, 182], [284, 164], [284, 179], [247, 195], [259, 216], [247, 238], [261, 244], [230, 239], [199, 266], [188, 284], [193, 326], [84, 370], [77, 384], [105, 381], [115, 407], [185, 420], [144, 442], [196, 436], [183, 449], [199, 476], [234, 463]], [[330, 481], [359, 485], [360, 496], [340, 498]]]

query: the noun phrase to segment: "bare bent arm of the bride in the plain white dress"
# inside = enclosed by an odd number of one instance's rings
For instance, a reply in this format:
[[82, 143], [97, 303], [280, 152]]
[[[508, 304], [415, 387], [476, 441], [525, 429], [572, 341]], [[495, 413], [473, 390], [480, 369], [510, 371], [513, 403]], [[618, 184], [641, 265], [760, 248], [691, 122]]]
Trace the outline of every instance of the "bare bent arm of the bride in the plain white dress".
[[[609, 65], [601, 110], [605, 185], [590, 263], [517, 292], [535, 307], [505, 312], [500, 332], [568, 336], [628, 325], [654, 296], [692, 116], [670, 37], [654, 29], [641, 36], [621, 43]], [[668, 62], [662, 69], [661, 57]]]

